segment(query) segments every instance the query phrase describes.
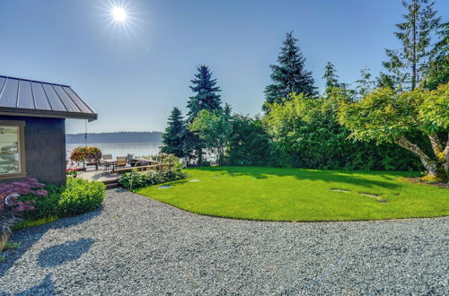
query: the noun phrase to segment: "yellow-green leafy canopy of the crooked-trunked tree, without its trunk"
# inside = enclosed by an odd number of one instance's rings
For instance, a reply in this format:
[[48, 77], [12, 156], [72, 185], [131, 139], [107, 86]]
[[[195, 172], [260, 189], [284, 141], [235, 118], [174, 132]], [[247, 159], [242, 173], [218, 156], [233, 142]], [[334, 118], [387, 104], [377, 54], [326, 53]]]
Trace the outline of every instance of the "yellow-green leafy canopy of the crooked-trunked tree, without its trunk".
[[436, 91], [376, 89], [359, 102], [341, 101], [339, 121], [360, 141], [392, 143], [415, 131], [425, 135], [449, 128], [449, 83]]

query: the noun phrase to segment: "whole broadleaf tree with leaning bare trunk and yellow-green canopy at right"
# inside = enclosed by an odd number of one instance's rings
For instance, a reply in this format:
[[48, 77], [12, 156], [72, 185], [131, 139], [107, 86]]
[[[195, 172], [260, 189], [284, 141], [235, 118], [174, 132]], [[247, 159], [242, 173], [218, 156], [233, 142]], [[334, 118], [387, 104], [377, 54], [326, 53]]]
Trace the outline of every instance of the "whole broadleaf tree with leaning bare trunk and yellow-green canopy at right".
[[[339, 122], [359, 141], [401, 145], [415, 153], [432, 176], [447, 179], [449, 149], [438, 134], [444, 133], [447, 141], [449, 83], [435, 91], [376, 89], [359, 102], [342, 101]], [[410, 141], [409, 135], [417, 133], [427, 135], [433, 153]]]

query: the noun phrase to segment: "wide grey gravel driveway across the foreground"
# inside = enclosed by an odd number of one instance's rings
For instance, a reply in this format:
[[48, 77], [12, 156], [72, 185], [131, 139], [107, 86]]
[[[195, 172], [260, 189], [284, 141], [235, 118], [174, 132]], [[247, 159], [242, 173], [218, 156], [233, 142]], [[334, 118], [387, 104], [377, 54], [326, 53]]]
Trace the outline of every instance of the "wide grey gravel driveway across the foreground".
[[121, 189], [104, 207], [18, 231], [9, 294], [448, 294], [449, 219], [248, 222]]

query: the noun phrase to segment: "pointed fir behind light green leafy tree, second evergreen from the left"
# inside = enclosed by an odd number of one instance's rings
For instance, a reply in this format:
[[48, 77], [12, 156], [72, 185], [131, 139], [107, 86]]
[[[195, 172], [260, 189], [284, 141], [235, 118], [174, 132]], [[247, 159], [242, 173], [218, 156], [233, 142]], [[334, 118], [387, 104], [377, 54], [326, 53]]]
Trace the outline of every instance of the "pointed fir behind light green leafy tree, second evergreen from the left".
[[[198, 73], [195, 78], [191, 80], [193, 85], [190, 86], [191, 91], [195, 93], [194, 96], [189, 97], [187, 108], [187, 124], [191, 124], [197, 118], [199, 111], [206, 109], [214, 111], [222, 109], [222, 101], [220, 99], [220, 87], [216, 86], [216, 79], [212, 78], [212, 72], [207, 65], [199, 65], [197, 67]], [[187, 155], [193, 155], [197, 158], [197, 164], [200, 165], [203, 161], [204, 141], [198, 135], [186, 132], [186, 141], [184, 142], [184, 152]]]

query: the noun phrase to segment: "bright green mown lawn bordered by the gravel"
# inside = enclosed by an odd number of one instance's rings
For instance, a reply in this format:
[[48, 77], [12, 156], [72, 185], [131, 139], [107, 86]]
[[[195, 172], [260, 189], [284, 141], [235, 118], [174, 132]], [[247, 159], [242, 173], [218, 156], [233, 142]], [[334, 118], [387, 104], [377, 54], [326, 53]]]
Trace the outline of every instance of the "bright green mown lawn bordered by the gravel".
[[[172, 187], [151, 186], [136, 189], [136, 193], [193, 213], [252, 220], [348, 221], [449, 215], [449, 189], [399, 179], [417, 176], [413, 172], [260, 167], [187, 171], [187, 180], [167, 183]], [[192, 179], [200, 181], [189, 182]]]

